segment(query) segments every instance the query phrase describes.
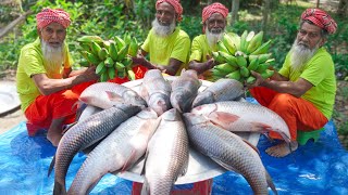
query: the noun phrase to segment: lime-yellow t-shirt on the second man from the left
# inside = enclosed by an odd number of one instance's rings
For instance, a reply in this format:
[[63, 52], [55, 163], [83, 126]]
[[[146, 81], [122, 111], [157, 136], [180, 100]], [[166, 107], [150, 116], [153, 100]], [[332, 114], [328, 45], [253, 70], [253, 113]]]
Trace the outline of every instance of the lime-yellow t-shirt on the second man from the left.
[[183, 62], [182, 67], [176, 75], [179, 75], [182, 68], [187, 68], [190, 40], [188, 35], [176, 27], [174, 32], [167, 37], [157, 36], [151, 29], [146, 38], [141, 49], [149, 53], [150, 62], [158, 65], [169, 65], [170, 58], [176, 58]]

